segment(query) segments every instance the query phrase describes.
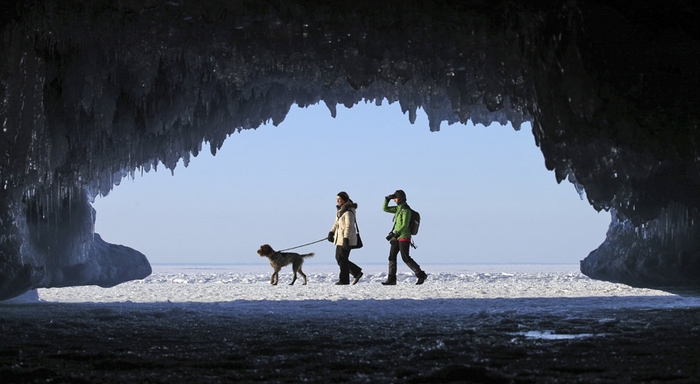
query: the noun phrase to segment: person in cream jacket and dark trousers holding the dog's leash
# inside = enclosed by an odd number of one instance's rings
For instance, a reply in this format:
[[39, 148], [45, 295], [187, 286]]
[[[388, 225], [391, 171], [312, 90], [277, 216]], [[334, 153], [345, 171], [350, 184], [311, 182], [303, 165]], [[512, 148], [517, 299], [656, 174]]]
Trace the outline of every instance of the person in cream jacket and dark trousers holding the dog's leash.
[[[328, 241], [335, 243], [335, 260], [340, 267], [340, 276], [336, 285], [350, 284], [350, 274], [355, 285], [362, 277], [362, 268], [350, 261], [350, 246], [357, 244], [357, 224], [355, 210], [357, 204], [350, 200], [347, 192], [338, 192], [335, 198], [336, 213], [333, 228], [328, 232]], [[335, 241], [334, 241], [335, 240]]]

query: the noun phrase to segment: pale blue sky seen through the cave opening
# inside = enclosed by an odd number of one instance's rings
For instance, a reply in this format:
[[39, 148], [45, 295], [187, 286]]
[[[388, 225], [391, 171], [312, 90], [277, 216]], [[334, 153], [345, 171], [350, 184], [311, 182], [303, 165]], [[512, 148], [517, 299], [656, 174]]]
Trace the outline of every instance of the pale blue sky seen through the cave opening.
[[[529, 124], [443, 122], [430, 132], [422, 110], [411, 124], [398, 103], [338, 106], [336, 118], [324, 105], [293, 106], [277, 127], [234, 133], [216, 156], [204, 145], [174, 174], [161, 165], [97, 197], [95, 232], [154, 265], [267, 264], [262, 244], [325, 239], [346, 191], [365, 244], [350, 259], [385, 264], [392, 215], [382, 203], [403, 189], [421, 214], [411, 249], [421, 265], [578, 264], [610, 223], [568, 181], [557, 184]], [[325, 264], [335, 263], [334, 247], [293, 251]]]

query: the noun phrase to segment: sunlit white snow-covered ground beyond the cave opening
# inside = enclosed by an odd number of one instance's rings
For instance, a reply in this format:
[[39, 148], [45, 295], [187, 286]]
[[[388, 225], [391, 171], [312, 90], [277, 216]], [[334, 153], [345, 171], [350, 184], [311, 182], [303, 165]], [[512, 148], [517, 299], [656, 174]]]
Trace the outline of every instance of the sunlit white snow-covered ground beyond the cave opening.
[[662, 291], [637, 289], [596, 281], [581, 274], [577, 265], [423, 265], [429, 277], [416, 286], [416, 278], [399, 261], [398, 284], [382, 286], [385, 265], [363, 266], [357, 285], [336, 286], [338, 267], [307, 262], [308, 284], [289, 286], [291, 268], [280, 272], [279, 285], [270, 284], [272, 269], [260, 265], [155, 265], [153, 274], [113, 288], [95, 286], [40, 289], [47, 302], [229, 302], [234, 300], [392, 300], [392, 299], [495, 299], [664, 297], [664, 302], [700, 303]]

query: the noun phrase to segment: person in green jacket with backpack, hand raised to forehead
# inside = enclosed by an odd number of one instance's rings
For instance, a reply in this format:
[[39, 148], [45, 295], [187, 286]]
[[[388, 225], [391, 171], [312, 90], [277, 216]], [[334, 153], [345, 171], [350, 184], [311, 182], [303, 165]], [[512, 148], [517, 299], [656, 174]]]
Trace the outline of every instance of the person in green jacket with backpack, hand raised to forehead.
[[[392, 199], [396, 203], [396, 206], [390, 207], [389, 201]], [[409, 256], [409, 250], [411, 248], [411, 230], [409, 225], [411, 220], [411, 208], [406, 204], [406, 193], [399, 189], [391, 195], [385, 196], [382, 209], [384, 212], [394, 214], [394, 227], [391, 232], [389, 232], [389, 236], [386, 237], [389, 243], [391, 243], [391, 248], [389, 249], [389, 275], [387, 276], [387, 280], [382, 282], [382, 285], [396, 285], [396, 257], [399, 252], [401, 252], [401, 259], [403, 262], [416, 274], [418, 278], [416, 285], [423, 284], [428, 275], [420, 268], [420, 265]]]

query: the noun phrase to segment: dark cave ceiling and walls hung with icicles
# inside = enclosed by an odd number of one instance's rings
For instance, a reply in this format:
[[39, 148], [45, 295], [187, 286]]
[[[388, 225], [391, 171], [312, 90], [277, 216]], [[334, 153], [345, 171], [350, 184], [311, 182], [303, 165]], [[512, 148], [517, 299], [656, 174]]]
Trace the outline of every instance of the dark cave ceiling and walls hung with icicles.
[[[0, 299], [147, 276], [90, 200], [294, 104], [530, 121], [613, 210], [592, 277], [700, 293], [698, 9], [688, 2], [15, 0], [0, 11]], [[254, 159], [251, 159], [254, 161]]]

